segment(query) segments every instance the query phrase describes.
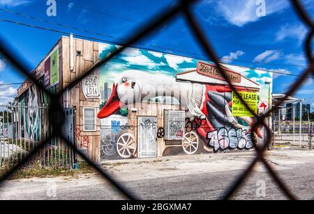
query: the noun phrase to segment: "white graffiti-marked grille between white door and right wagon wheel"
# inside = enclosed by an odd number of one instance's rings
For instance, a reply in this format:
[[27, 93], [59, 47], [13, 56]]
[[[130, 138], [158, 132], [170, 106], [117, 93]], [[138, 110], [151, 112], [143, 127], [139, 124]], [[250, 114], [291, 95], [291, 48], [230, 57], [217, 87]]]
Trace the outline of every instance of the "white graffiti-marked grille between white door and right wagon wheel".
[[184, 110], [165, 110], [165, 140], [184, 139], [185, 120]]

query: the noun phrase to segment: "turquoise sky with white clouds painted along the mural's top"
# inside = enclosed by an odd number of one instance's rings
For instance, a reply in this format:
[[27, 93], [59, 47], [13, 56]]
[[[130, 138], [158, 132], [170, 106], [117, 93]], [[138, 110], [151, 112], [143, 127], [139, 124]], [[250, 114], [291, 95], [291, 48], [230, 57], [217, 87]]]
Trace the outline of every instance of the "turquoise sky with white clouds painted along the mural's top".
[[[106, 58], [119, 46], [113, 44], [100, 44], [100, 58]], [[116, 56], [105, 66], [100, 67], [100, 90], [103, 95], [103, 83], [109, 83], [112, 88], [114, 79], [117, 74], [126, 71], [143, 71], [152, 74], [165, 74], [173, 76], [180, 72], [188, 72], [196, 70], [199, 59], [176, 56], [168, 53], [160, 53], [155, 51], [147, 51], [145, 49], [126, 49], [123, 53]], [[201, 60], [204, 61], [204, 60]], [[207, 61], [207, 63], [211, 63]], [[212, 64], [212, 63], [211, 63]], [[223, 64], [225, 65], [225, 64]], [[246, 67], [237, 67], [234, 65], [225, 65], [234, 72], [238, 72], [243, 76], [255, 81], [261, 85], [260, 94], [266, 97], [268, 101], [269, 88], [265, 84], [266, 79], [271, 79], [273, 74], [264, 70], [250, 69]]]

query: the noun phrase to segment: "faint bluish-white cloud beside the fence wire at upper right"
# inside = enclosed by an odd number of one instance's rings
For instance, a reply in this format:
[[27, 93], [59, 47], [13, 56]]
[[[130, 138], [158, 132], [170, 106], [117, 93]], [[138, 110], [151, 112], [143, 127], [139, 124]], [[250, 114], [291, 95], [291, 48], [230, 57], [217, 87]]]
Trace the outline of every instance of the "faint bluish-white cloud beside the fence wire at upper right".
[[281, 42], [286, 40], [287, 38], [295, 39], [301, 44], [306, 37], [307, 29], [305, 26], [301, 24], [285, 24], [281, 26], [280, 31], [276, 34], [276, 41]]

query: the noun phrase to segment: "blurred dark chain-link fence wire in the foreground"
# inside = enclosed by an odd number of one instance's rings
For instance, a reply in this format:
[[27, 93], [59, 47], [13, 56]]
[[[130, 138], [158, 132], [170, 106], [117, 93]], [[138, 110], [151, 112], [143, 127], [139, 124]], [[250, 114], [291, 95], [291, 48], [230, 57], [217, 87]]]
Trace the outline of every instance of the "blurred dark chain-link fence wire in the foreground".
[[[175, 6], [173, 6], [170, 9], [167, 9], [160, 13], [158, 17], [154, 17], [151, 19], [149, 22], [147, 22], [147, 25], [144, 26], [144, 28], [140, 29], [135, 33], [135, 35], [130, 36], [130, 38], [125, 42], [123, 47], [120, 47], [113, 53], [111, 53], [107, 58], [104, 58], [103, 60], [98, 61], [96, 65], [91, 67], [90, 69], [87, 70], [84, 74], [79, 76], [73, 83], [70, 83], [66, 88], [63, 89], [63, 92], [66, 90], [75, 87], [77, 83], [80, 83], [82, 79], [87, 77], [91, 72], [94, 71], [94, 69], [100, 67], [101, 65], [105, 65], [106, 63], [110, 62], [114, 56], [117, 56], [119, 53], [124, 51], [127, 47], [130, 47], [131, 45], [135, 44], [136, 42], [139, 42], [142, 38], [147, 36], [149, 33], [152, 31], [160, 28], [165, 22], [169, 22], [171, 19], [173, 19], [176, 15], [182, 13], [184, 17], [186, 18], [186, 23], [190, 27], [191, 32], [193, 32], [193, 36], [197, 40], [197, 42], [200, 44], [200, 47], [204, 50], [204, 52], [207, 54], [209, 60], [213, 61], [217, 67], [220, 73], [222, 74], [223, 78], [227, 83], [229, 83], [230, 87], [232, 90], [240, 97], [241, 101], [245, 104], [246, 108], [249, 108], [248, 104], [244, 102], [244, 100], [241, 98], [239, 95], [239, 92], [234, 88], [234, 85], [230, 82], [228, 79], [227, 74], [225, 73], [224, 69], [220, 66], [220, 60], [214, 51], [211, 42], [209, 42], [204, 35], [204, 31], [202, 31], [202, 28], [200, 27], [200, 24], [197, 22], [195, 19], [193, 13], [192, 13], [192, 6], [194, 3], [197, 3], [196, 0], [181, 0], [178, 1]], [[312, 50], [312, 40], [313, 40], [313, 35], [314, 35], [314, 22], [311, 20], [310, 16], [308, 13], [306, 13], [306, 10], [301, 6], [301, 3], [298, 0], [291, 0], [291, 4], [294, 7], [296, 13], [299, 15], [301, 18], [302, 22], [306, 24], [307, 28], [309, 29], [308, 35], [306, 37], [306, 41], [304, 43], [304, 51], [306, 52], [307, 60], [308, 60], [308, 67], [304, 70], [303, 74], [299, 77], [299, 79], [290, 87], [290, 90], [287, 91], [287, 96], [291, 96], [301, 86], [302, 83], [308, 78], [308, 76], [314, 74], [314, 58], [313, 58], [313, 50]], [[210, 32], [207, 32], [207, 34]], [[2, 55], [8, 60], [12, 65], [14, 65], [15, 69], [17, 69], [21, 74], [24, 74], [24, 76], [28, 76], [30, 81], [33, 81], [34, 84], [40, 88], [47, 96], [50, 97], [50, 111], [48, 113], [48, 118], [50, 122], [50, 126], [52, 126], [52, 133], [45, 137], [44, 139], [40, 140], [40, 142], [36, 145], [34, 145], [34, 148], [32, 151], [27, 154], [27, 156], [22, 157], [20, 160], [17, 161], [17, 163], [10, 168], [10, 171], [3, 175], [0, 178], [0, 186], [2, 185], [3, 181], [8, 179], [16, 170], [19, 170], [20, 167], [22, 167], [25, 163], [29, 162], [34, 158], [44, 147], [49, 145], [51, 140], [53, 138], [61, 138], [64, 142], [66, 142], [66, 145], [68, 147], [72, 148], [77, 154], [80, 154], [84, 158], [87, 163], [92, 165], [93, 167], [100, 172], [110, 183], [112, 183], [112, 186], [115, 186], [117, 189], [119, 189], [126, 197], [129, 199], [140, 199], [140, 196], [133, 194], [133, 192], [130, 192], [125, 186], [122, 186], [121, 183], [116, 181], [115, 179], [110, 176], [102, 167], [96, 165], [89, 157], [86, 155], [82, 154], [81, 151], [77, 150], [75, 145], [70, 142], [70, 140], [67, 138], [65, 133], [62, 131], [62, 125], [64, 124], [65, 120], [65, 114], [63, 111], [63, 108], [59, 105], [59, 100], [63, 92], [58, 93], [58, 94], [51, 94], [50, 92], [47, 92], [45, 88], [43, 87], [42, 84], [36, 80], [34, 76], [29, 75], [28, 69], [26, 64], [23, 62], [22, 58], [18, 56], [15, 51], [11, 47], [8, 47], [8, 44], [6, 43], [5, 40], [3, 40], [2, 37], [0, 37], [0, 51]], [[278, 106], [281, 106], [282, 103], [279, 103]], [[267, 124], [264, 123], [265, 119], [271, 115], [272, 112], [275, 110], [278, 110], [278, 106], [274, 106], [271, 110], [269, 110], [268, 113], [262, 116], [256, 115], [254, 112], [251, 111], [253, 115], [255, 115], [257, 123], [253, 127], [253, 130], [257, 130], [257, 127], [259, 126], [266, 126]], [[270, 129], [267, 129], [267, 144], [271, 143], [271, 131]], [[255, 144], [256, 147], [256, 153], [257, 156], [255, 159], [252, 161], [252, 163], [248, 166], [246, 170], [242, 174], [239, 175], [237, 179], [234, 180], [233, 183], [230, 183], [230, 186], [225, 190], [224, 194], [220, 197], [220, 199], [230, 199], [232, 195], [234, 195], [234, 192], [238, 190], [241, 185], [244, 183], [246, 178], [253, 172], [253, 167], [257, 165], [257, 163], [262, 163], [264, 166], [267, 168], [267, 171], [269, 175], [274, 179], [278, 187], [283, 191], [283, 193], [287, 196], [289, 199], [297, 199], [297, 197], [294, 196], [292, 190], [281, 180], [280, 176], [274, 171], [273, 167], [267, 163], [267, 161], [264, 158], [264, 150], [265, 147], [258, 147], [256, 143], [256, 139], [253, 138], [252, 135], [252, 141]]]

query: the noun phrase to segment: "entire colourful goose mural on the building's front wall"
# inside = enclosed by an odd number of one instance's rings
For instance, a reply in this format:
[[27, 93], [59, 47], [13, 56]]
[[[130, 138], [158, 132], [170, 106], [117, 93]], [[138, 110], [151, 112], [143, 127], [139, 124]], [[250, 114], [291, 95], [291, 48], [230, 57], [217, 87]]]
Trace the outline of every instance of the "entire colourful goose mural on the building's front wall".
[[[110, 44], [100, 44], [100, 58], [117, 49]], [[228, 79], [249, 102], [257, 114], [267, 112], [272, 85], [269, 72], [232, 65], [223, 65]], [[112, 72], [114, 71], [114, 72]], [[197, 133], [206, 147], [214, 151], [225, 149], [252, 149], [252, 135], [262, 141], [264, 130], [254, 133], [252, 113], [239, 101], [223, 79], [215, 65], [210, 62], [155, 53], [139, 49], [127, 49], [105, 67], [100, 68], [100, 87], [103, 99], [98, 113], [101, 120], [121, 115], [122, 109], [142, 109], [142, 104], [177, 104], [186, 113], [185, 125], [176, 120], [169, 123], [170, 133], [178, 140], [186, 133]], [[148, 115], [141, 115], [142, 117]], [[121, 115], [126, 118], [128, 115]], [[161, 116], [163, 117], [163, 116]], [[163, 118], [157, 118], [158, 120]], [[142, 129], [154, 126], [157, 137], [164, 138], [165, 127], [157, 124], [139, 124]], [[112, 120], [112, 133], [122, 134], [119, 122]]]

